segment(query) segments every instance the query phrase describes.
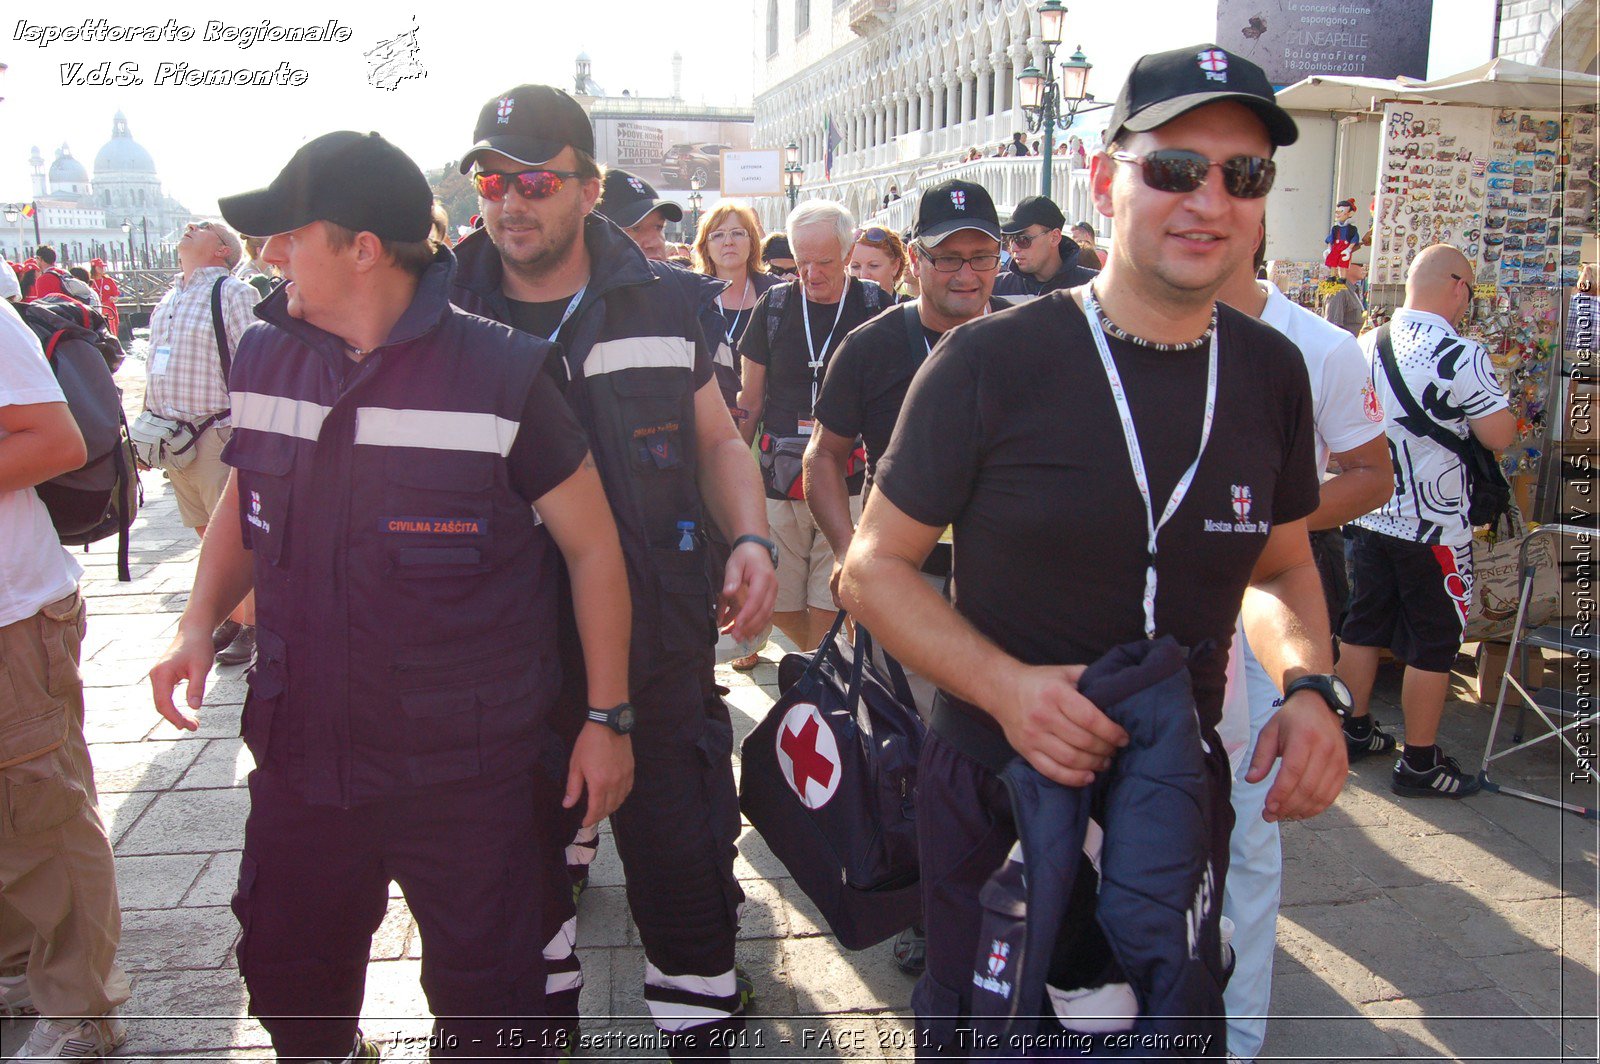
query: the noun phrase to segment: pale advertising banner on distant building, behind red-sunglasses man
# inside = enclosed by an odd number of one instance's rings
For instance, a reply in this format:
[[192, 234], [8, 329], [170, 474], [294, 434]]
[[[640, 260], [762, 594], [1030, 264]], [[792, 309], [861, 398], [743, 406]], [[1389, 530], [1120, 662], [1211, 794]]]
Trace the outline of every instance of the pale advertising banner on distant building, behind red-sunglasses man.
[[688, 190], [690, 179], [715, 190], [723, 181], [723, 152], [750, 147], [752, 122], [595, 115], [595, 150], [659, 190]]

